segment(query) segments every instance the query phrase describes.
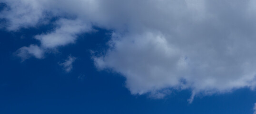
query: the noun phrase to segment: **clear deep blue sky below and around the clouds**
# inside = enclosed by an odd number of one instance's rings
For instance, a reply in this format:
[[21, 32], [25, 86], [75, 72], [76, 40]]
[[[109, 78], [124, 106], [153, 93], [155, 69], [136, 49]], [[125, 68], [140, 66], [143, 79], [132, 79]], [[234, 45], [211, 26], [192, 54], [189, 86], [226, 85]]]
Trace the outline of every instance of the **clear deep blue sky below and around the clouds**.
[[[224, 95], [196, 97], [190, 91], [174, 91], [164, 99], [131, 95], [125, 78], [98, 71], [90, 50], [106, 47], [109, 32], [82, 34], [76, 44], [59, 47], [44, 59], [31, 57], [20, 62], [13, 53], [23, 46], [38, 44], [34, 35], [51, 25], [18, 32], [0, 30], [0, 114], [253, 114], [256, 93], [239, 89]], [[59, 62], [77, 57], [66, 73]]]

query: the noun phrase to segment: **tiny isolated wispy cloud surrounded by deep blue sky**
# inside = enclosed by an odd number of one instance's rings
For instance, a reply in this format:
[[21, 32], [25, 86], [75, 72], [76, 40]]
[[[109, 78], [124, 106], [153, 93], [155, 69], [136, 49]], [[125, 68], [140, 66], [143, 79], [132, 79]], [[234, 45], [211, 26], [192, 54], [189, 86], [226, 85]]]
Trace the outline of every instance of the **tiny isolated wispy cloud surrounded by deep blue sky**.
[[73, 68], [73, 62], [75, 62], [77, 58], [76, 57], [72, 57], [72, 56], [69, 56], [65, 62], [63, 63], [59, 63], [60, 66], [63, 66], [63, 69], [66, 71], [66, 72], [70, 72]]

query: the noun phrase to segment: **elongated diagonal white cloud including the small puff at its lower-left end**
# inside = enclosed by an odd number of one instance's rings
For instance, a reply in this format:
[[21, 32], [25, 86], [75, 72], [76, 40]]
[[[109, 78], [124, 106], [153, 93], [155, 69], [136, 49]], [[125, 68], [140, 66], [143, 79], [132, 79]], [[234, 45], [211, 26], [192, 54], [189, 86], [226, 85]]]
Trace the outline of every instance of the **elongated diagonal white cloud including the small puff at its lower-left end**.
[[21, 47], [16, 54], [22, 60], [29, 58], [30, 55], [42, 58], [48, 50], [75, 43], [78, 34], [91, 30], [89, 25], [77, 19], [59, 19], [56, 22], [56, 26], [57, 28], [52, 32], [35, 36], [40, 41], [40, 46], [30, 45], [30, 47]]

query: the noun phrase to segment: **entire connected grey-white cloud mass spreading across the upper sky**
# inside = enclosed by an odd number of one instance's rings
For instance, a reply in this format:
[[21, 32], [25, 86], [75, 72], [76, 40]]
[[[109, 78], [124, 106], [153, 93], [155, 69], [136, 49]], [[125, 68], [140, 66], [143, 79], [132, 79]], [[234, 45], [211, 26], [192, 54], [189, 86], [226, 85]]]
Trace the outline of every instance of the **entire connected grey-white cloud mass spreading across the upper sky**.
[[92, 26], [113, 30], [110, 48], [94, 57], [98, 69], [125, 76], [132, 94], [163, 97], [167, 89], [198, 94], [256, 86], [254, 0], [1, 0], [6, 28], [36, 27], [60, 17], [57, 28], [35, 36], [40, 46], [18, 55], [75, 43]]

